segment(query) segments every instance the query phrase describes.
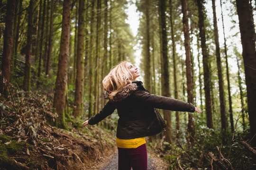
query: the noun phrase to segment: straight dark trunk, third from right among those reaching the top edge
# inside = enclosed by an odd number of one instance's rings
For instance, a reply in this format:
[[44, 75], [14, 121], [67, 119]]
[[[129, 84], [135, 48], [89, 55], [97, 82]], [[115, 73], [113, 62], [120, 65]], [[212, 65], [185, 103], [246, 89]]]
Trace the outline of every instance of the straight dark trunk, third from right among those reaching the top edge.
[[[220, 104], [221, 129], [226, 131], [227, 118], [226, 118], [226, 110], [225, 110], [224, 85], [223, 85], [223, 78], [222, 78], [221, 59], [220, 59], [220, 52], [219, 52], [219, 30], [217, 26], [215, 0], [211, 0], [211, 2], [212, 2], [212, 10], [213, 10], [214, 40], [216, 45], [216, 60], [217, 60], [218, 79], [219, 79], [219, 104]], [[233, 115], [230, 117], [230, 121], [231, 120], [233, 120]], [[231, 129], [233, 133], [234, 127]]]

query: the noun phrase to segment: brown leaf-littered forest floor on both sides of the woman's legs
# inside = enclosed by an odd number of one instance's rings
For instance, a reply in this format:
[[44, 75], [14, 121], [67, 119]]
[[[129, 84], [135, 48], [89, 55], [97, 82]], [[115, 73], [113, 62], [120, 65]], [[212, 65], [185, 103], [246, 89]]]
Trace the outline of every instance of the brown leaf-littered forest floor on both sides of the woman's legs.
[[[117, 164], [113, 131], [51, 126], [47, 120], [56, 115], [49, 95], [30, 96], [0, 100], [0, 170], [107, 170]], [[166, 170], [168, 165], [149, 150], [149, 166]]]

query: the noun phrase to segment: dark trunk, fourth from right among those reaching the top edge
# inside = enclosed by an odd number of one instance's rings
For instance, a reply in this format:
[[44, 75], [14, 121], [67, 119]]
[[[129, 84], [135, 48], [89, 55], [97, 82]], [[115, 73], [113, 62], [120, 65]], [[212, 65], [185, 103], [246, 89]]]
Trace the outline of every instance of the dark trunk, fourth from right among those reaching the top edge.
[[197, 6], [198, 6], [198, 13], [199, 13], [198, 25], [200, 29], [201, 49], [202, 49], [202, 58], [203, 58], [202, 60], [203, 60], [206, 124], [207, 124], [207, 127], [213, 128], [211, 97], [210, 97], [210, 72], [209, 72], [209, 66], [208, 66], [208, 54], [206, 49], [203, 0], [197, 0]]

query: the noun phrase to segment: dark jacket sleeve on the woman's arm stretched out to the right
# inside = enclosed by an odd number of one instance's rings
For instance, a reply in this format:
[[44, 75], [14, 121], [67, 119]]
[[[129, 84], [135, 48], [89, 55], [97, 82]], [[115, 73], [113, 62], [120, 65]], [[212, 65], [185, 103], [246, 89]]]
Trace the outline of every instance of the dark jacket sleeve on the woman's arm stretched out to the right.
[[134, 100], [137, 102], [158, 109], [189, 112], [195, 111], [195, 107], [190, 102], [183, 102], [181, 100], [173, 99], [170, 97], [150, 94], [143, 90], [137, 90], [134, 92], [134, 96]]

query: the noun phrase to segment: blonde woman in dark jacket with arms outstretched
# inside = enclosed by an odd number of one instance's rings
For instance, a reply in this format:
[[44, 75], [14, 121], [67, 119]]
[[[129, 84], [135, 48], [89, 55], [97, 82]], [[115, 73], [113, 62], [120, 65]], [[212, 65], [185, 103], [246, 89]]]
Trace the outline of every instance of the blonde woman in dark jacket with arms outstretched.
[[177, 111], [201, 111], [190, 102], [150, 94], [141, 81], [138, 69], [127, 61], [120, 62], [110, 70], [103, 83], [103, 95], [109, 102], [95, 116], [82, 124], [95, 125], [118, 111], [119, 120], [116, 133], [119, 170], [146, 170], [146, 136], [165, 131], [165, 121], [158, 109]]

